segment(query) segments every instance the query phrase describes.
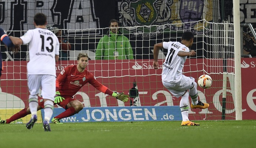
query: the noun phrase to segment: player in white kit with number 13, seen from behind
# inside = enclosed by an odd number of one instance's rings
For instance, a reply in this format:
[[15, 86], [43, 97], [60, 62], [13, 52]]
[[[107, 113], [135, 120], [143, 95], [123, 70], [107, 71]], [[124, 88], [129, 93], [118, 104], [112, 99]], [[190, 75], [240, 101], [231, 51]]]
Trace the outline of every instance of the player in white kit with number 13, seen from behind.
[[26, 124], [31, 129], [37, 121], [37, 94], [40, 87], [44, 98], [45, 118], [43, 128], [50, 131], [49, 121], [53, 114], [53, 101], [56, 89], [55, 64], [59, 59], [59, 40], [56, 35], [46, 29], [47, 17], [37, 13], [34, 17], [35, 29], [28, 30], [22, 37], [11, 37], [14, 45], [29, 44], [29, 58], [27, 63], [27, 85], [29, 87], [29, 108], [31, 119]]

